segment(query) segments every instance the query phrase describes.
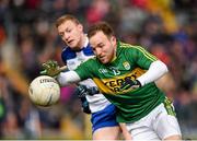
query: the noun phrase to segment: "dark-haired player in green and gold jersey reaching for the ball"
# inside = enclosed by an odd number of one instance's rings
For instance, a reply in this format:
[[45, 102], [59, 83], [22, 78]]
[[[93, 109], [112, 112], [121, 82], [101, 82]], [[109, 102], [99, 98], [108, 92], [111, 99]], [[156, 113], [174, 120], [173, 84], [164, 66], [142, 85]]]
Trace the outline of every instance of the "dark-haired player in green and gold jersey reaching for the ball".
[[[181, 140], [172, 102], [154, 83], [167, 72], [166, 66], [144, 48], [117, 40], [105, 22], [91, 26], [88, 37], [96, 57], [58, 74], [60, 85], [93, 79], [117, 107], [117, 121], [126, 122], [132, 140]], [[58, 66], [45, 69], [48, 75], [59, 72]]]

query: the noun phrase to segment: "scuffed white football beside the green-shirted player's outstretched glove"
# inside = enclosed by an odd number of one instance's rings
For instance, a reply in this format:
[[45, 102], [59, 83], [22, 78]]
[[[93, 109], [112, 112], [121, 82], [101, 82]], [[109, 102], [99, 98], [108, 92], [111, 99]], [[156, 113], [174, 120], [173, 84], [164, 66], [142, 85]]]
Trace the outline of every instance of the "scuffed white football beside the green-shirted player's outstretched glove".
[[60, 87], [54, 78], [40, 75], [31, 82], [28, 95], [35, 105], [50, 106], [59, 101]]

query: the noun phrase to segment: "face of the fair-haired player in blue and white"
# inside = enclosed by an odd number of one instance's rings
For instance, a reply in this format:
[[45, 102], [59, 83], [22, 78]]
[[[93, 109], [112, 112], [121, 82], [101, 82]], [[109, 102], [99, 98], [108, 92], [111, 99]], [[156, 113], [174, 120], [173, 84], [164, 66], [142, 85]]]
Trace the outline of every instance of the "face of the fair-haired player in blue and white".
[[58, 27], [58, 34], [61, 39], [72, 49], [80, 49], [83, 38], [83, 27], [81, 24], [68, 20], [60, 24]]

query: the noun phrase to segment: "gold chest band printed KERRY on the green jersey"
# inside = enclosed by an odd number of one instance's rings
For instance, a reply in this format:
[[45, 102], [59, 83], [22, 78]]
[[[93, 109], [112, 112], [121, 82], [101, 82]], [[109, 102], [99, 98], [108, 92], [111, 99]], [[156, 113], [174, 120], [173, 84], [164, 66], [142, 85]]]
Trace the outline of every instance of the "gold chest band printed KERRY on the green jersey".
[[140, 68], [136, 68], [129, 73], [123, 74], [123, 75], [116, 75], [111, 79], [97, 79], [93, 78], [93, 81], [99, 86], [100, 91], [105, 94], [123, 94], [128, 91], [131, 91], [131, 89], [125, 90], [120, 92], [121, 83], [125, 81], [126, 78], [129, 78], [131, 80], [136, 80], [140, 75], [142, 75], [146, 72], [146, 70], [142, 70]]

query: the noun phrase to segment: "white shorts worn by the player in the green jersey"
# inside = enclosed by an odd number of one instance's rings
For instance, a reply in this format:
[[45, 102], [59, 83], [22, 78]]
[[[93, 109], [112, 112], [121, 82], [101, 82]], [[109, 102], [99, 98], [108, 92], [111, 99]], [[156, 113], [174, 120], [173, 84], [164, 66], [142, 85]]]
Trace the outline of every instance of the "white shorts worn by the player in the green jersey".
[[132, 140], [163, 140], [182, 134], [176, 117], [167, 114], [163, 103], [139, 121], [126, 126]]

